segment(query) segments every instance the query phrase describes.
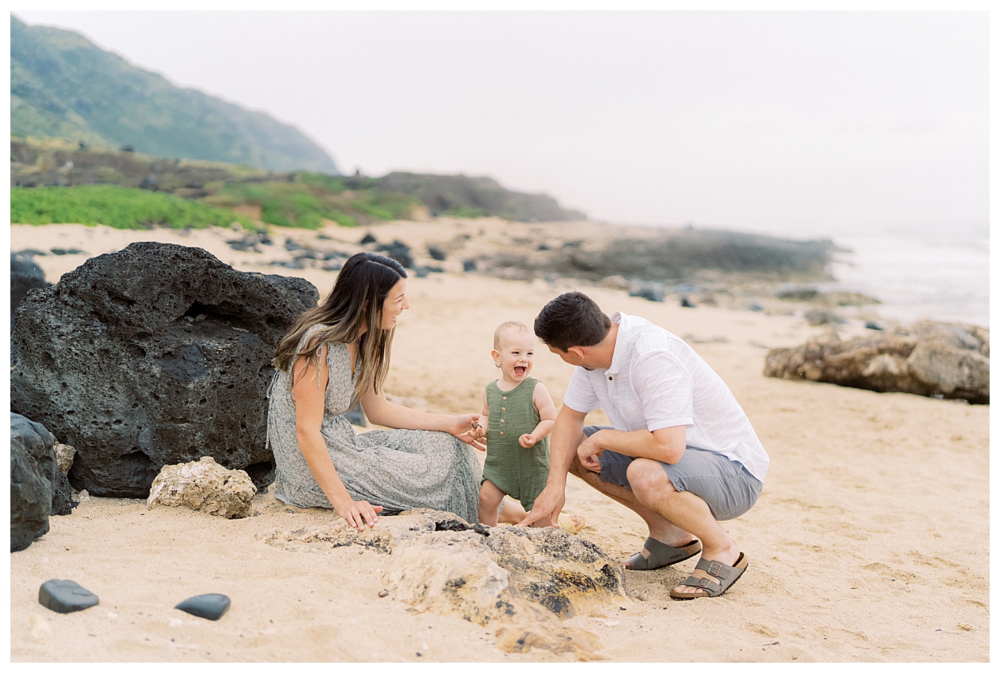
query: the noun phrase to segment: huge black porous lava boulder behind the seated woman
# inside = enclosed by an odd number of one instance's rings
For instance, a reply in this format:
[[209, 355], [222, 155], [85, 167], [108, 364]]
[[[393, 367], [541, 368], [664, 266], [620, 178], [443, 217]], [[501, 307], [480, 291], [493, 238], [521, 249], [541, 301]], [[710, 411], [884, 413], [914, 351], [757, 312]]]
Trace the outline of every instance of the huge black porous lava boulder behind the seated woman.
[[76, 447], [70, 481], [146, 497], [163, 465], [210, 455], [273, 480], [274, 346], [319, 294], [199, 248], [134, 243], [32, 293], [11, 341], [11, 406]]

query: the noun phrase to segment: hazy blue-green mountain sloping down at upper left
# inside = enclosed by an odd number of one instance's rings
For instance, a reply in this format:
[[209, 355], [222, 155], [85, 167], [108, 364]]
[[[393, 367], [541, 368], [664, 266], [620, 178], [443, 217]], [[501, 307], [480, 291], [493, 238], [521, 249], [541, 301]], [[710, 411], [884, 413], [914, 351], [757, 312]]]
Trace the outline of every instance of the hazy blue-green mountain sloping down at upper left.
[[340, 175], [302, 132], [181, 89], [82, 35], [10, 19], [12, 136], [67, 138], [157, 157]]

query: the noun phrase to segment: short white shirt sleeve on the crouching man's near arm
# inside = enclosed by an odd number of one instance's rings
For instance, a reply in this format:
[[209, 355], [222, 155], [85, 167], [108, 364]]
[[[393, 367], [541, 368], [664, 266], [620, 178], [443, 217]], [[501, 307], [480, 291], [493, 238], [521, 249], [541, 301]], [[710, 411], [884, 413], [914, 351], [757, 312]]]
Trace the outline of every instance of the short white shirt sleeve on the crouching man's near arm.
[[637, 358], [632, 381], [650, 432], [663, 427], [694, 425], [693, 381], [676, 355], [656, 350]]

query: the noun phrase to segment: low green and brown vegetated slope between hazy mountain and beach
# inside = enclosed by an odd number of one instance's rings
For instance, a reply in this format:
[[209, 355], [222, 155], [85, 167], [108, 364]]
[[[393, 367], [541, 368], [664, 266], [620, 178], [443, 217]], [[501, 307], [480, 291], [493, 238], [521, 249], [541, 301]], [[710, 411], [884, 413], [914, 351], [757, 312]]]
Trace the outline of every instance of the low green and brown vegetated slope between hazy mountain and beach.
[[14, 138], [10, 156], [11, 222], [23, 224], [100, 222], [142, 229], [239, 222], [319, 229], [430, 216], [522, 222], [585, 217], [564, 211], [550, 197], [511, 192], [489, 178], [274, 172], [57, 138]]

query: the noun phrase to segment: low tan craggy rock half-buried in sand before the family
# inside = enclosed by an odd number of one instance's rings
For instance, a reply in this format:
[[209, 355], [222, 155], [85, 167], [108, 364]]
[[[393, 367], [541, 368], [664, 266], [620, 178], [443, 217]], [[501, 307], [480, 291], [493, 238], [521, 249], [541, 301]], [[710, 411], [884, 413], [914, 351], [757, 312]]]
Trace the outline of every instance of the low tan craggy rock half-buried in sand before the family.
[[358, 532], [326, 526], [259, 534], [289, 551], [363, 545], [391, 554], [382, 580], [411, 612], [454, 614], [497, 627], [509, 652], [532, 647], [599, 658], [593, 634], [560, 619], [627, 601], [621, 565], [589, 540], [560, 528], [470, 525], [448, 512], [411, 510]]

